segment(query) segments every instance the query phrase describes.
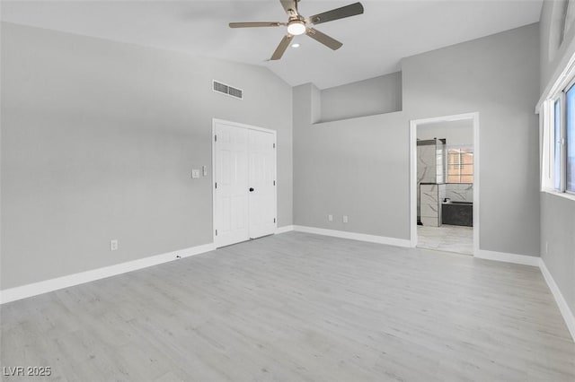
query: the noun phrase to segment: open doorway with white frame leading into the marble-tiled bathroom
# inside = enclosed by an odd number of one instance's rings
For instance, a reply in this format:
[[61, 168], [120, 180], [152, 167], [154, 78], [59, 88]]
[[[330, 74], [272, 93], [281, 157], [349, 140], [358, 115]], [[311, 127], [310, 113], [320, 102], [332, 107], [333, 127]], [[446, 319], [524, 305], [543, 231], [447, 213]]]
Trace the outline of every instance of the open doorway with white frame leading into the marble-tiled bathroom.
[[479, 248], [479, 116], [411, 121], [411, 246]]

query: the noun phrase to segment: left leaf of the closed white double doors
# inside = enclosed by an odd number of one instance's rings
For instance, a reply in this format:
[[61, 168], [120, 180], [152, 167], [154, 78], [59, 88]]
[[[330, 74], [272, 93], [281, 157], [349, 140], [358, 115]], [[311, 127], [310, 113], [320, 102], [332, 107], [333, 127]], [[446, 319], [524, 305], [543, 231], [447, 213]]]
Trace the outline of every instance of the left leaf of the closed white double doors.
[[250, 238], [248, 225], [248, 130], [215, 126], [215, 216], [217, 247]]

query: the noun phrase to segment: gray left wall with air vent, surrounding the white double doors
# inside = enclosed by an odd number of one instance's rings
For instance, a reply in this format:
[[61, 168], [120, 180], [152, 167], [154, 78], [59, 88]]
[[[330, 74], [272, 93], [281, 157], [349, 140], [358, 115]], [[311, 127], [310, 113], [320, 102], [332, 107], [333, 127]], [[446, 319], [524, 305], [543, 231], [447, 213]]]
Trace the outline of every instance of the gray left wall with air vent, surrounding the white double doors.
[[212, 117], [278, 131], [292, 223], [292, 91], [267, 69], [4, 22], [1, 43], [0, 288], [212, 242]]

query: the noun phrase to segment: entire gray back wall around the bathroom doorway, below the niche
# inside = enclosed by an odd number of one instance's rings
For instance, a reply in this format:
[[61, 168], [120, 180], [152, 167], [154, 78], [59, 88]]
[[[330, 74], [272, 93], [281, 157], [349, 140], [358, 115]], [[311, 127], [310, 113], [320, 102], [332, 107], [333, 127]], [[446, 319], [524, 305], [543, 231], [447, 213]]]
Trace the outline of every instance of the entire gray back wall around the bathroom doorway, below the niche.
[[[403, 60], [403, 111], [312, 124], [294, 90], [294, 221], [409, 239], [409, 121], [479, 111], [482, 249], [539, 256], [538, 24]], [[516, 193], [502, 193], [509, 185]], [[327, 214], [349, 215], [330, 223]]]

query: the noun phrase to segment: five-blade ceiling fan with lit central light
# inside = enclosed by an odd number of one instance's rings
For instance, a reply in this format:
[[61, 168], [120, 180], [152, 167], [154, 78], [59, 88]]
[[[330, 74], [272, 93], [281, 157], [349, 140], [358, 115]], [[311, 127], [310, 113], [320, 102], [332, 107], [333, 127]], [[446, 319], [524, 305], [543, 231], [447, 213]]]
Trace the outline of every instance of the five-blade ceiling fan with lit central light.
[[294, 36], [301, 34], [306, 34], [333, 50], [341, 48], [343, 44], [340, 41], [332, 39], [330, 36], [314, 29], [313, 26], [321, 24], [322, 22], [332, 22], [334, 20], [363, 13], [363, 5], [361, 5], [361, 3], [354, 3], [305, 18], [297, 12], [297, 3], [299, 0], [279, 0], [279, 2], [286, 10], [286, 13], [288, 13], [288, 22], [230, 22], [230, 28], [287, 26], [288, 34], [279, 42], [278, 48], [276, 48], [276, 51], [273, 52], [273, 55], [271, 56], [272, 60], [279, 60], [279, 58], [283, 56]]

